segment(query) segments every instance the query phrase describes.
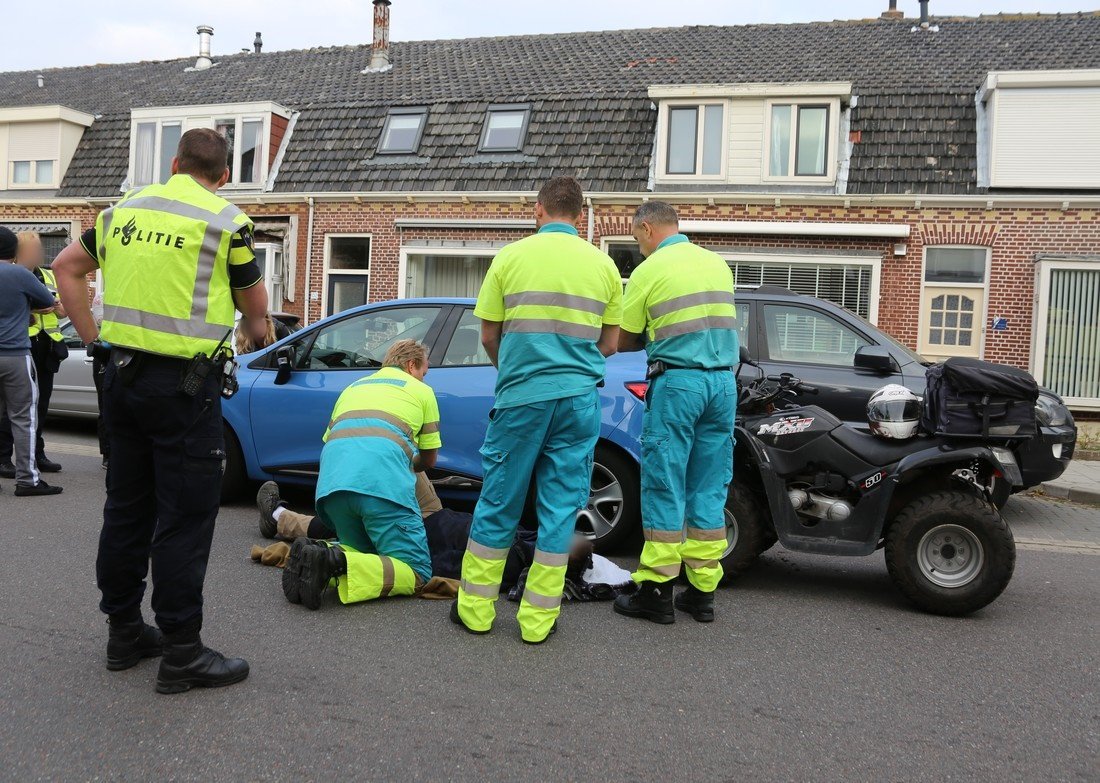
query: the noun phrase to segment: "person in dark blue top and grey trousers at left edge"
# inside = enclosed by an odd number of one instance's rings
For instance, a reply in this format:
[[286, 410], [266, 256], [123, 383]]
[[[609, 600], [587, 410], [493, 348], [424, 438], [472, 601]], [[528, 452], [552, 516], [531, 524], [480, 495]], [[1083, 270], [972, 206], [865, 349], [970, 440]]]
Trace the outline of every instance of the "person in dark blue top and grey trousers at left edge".
[[0, 227], [0, 412], [15, 440], [15, 495], [56, 495], [61, 487], [38, 477], [35, 459], [38, 388], [28, 331], [31, 312], [54, 307], [53, 295], [33, 273], [15, 264], [19, 240]]

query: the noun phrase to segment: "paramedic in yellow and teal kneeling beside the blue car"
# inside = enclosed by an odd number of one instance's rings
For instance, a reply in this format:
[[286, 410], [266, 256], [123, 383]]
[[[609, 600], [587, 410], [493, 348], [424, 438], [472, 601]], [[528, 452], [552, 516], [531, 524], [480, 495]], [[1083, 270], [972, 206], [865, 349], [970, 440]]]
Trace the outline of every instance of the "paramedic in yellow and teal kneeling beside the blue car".
[[439, 406], [424, 383], [428, 353], [399, 340], [382, 364], [344, 389], [332, 410], [317, 515], [339, 543], [295, 540], [283, 571], [293, 604], [319, 608], [333, 580], [341, 603], [355, 604], [413, 595], [431, 578], [414, 473], [433, 467], [442, 445]]

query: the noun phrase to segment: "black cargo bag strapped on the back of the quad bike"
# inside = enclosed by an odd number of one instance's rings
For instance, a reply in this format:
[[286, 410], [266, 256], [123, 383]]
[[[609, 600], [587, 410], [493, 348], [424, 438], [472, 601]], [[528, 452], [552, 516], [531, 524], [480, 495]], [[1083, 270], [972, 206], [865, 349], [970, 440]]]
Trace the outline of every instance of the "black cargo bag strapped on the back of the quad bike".
[[933, 434], [1023, 438], [1036, 432], [1038, 386], [1030, 373], [978, 359], [953, 357], [925, 373], [922, 428]]

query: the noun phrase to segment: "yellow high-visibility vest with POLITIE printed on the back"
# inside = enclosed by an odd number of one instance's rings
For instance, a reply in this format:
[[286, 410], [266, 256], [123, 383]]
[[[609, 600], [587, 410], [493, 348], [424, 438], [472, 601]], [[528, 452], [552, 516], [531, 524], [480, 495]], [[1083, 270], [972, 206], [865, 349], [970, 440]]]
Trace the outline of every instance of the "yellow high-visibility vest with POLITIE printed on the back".
[[233, 328], [230, 243], [251, 224], [184, 174], [132, 190], [100, 212], [102, 339], [165, 356], [210, 354]]

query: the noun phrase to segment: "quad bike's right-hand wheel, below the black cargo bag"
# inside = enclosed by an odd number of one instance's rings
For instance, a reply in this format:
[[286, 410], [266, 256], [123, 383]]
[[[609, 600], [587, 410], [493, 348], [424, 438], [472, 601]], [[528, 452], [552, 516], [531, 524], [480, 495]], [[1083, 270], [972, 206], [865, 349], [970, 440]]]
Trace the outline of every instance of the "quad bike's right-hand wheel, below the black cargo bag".
[[887, 531], [887, 569], [906, 598], [937, 615], [967, 615], [1008, 586], [1016, 562], [1009, 526], [963, 492], [919, 497]]

